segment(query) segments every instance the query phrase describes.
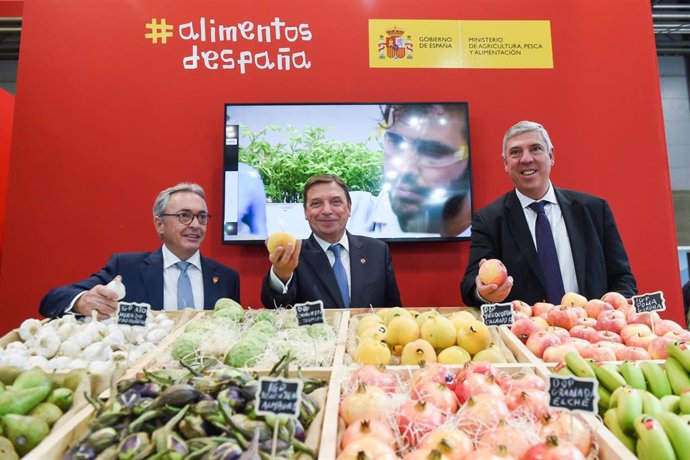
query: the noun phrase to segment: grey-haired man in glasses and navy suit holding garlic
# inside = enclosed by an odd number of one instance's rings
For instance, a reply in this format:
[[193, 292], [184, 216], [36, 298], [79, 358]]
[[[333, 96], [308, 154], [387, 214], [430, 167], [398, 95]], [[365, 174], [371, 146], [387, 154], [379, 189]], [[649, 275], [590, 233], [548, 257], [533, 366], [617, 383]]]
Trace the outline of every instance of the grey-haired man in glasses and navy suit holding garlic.
[[[153, 205], [153, 223], [163, 245], [154, 252], [114, 254], [98, 273], [48, 292], [41, 300], [41, 314], [57, 317], [71, 311], [88, 316], [96, 311], [99, 317], [112, 315], [118, 296], [105, 285], [116, 276], [126, 287], [122, 301], [145, 302], [153, 309], [208, 309], [223, 297], [239, 302], [238, 273], [199, 252], [208, 218], [199, 185], [180, 183], [163, 190]], [[178, 287], [183, 278], [184, 289]]]

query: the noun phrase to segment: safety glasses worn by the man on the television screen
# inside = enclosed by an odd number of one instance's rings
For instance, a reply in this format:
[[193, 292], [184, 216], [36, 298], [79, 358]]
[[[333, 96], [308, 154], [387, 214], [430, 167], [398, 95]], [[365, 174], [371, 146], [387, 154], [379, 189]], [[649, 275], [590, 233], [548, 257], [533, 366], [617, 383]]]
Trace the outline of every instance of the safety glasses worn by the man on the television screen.
[[384, 140], [398, 152], [414, 151], [417, 164], [425, 168], [443, 168], [468, 157], [466, 144], [458, 146], [455, 150], [438, 141], [408, 139], [392, 131], [386, 131]]

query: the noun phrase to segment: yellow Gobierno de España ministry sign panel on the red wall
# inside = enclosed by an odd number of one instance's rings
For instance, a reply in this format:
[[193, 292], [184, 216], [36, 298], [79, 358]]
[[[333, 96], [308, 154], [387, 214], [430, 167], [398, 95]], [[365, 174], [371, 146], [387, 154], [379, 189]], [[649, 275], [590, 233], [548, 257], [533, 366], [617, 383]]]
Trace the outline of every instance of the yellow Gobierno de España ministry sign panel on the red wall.
[[370, 19], [369, 67], [551, 69], [551, 22]]

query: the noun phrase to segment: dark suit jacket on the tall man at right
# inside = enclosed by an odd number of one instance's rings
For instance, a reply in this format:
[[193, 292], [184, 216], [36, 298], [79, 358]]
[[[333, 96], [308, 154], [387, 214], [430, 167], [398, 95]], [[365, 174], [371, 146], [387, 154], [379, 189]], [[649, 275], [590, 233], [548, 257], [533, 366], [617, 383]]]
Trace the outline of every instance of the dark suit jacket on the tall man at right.
[[[573, 252], [579, 293], [588, 299], [608, 291], [626, 297], [637, 294], [628, 256], [606, 201], [592, 195], [555, 188]], [[480, 209], [472, 219], [470, 260], [460, 284], [467, 305], [479, 305], [475, 278], [481, 259], [500, 259], [513, 277], [506, 301], [528, 304], [546, 297], [544, 275], [527, 220], [515, 191]]]

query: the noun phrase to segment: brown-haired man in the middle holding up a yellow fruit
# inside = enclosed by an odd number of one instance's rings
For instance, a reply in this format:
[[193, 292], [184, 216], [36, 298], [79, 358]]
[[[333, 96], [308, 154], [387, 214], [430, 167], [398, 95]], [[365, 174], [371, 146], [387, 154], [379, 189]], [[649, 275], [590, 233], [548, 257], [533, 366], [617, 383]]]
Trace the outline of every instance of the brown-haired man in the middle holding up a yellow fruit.
[[270, 254], [272, 266], [261, 288], [264, 306], [315, 300], [326, 308], [401, 305], [388, 245], [345, 230], [351, 207], [339, 177], [318, 175], [307, 181], [304, 215], [312, 234]]

